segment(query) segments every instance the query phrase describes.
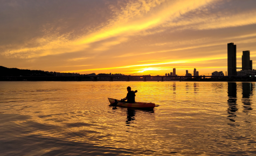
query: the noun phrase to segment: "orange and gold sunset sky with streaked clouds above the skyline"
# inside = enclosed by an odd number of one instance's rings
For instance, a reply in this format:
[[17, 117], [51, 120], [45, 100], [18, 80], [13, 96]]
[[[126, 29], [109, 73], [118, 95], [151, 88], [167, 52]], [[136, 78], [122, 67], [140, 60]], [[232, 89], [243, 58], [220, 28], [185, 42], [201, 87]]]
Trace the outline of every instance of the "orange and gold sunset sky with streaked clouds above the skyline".
[[0, 0], [0, 65], [74, 73], [227, 71], [251, 50], [256, 1]]

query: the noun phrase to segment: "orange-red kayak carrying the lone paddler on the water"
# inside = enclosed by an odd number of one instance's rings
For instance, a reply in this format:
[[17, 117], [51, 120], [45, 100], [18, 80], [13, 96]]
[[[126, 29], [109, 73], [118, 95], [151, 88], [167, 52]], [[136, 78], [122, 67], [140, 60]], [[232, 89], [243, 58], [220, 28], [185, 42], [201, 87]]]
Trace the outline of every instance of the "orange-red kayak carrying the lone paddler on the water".
[[[115, 99], [108, 98], [108, 101], [112, 105], [115, 102]], [[120, 101], [120, 100], [117, 100]], [[147, 108], [147, 109], [153, 109], [156, 107], [155, 103], [146, 103], [146, 102], [135, 102], [135, 103], [127, 103], [127, 102], [118, 102], [117, 106], [123, 106], [123, 107], [133, 107], [133, 108]]]

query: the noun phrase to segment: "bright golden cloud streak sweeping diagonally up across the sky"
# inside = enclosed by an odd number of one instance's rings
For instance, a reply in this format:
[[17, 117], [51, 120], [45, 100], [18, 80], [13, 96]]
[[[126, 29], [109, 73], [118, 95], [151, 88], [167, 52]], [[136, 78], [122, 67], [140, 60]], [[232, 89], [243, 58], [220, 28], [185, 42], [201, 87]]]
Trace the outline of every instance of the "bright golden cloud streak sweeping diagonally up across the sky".
[[[174, 4], [167, 5], [163, 8], [158, 8], [158, 10], [150, 11], [155, 8], [155, 6], [161, 4], [162, 2], [154, 2], [154, 3], [143, 3], [144, 13], [135, 13], [133, 18], [130, 18], [130, 7], [126, 8], [127, 10], [123, 10], [122, 14], [119, 16], [118, 21], [110, 21], [110, 25], [103, 28], [101, 31], [92, 33], [86, 36], [83, 36], [77, 40], [67, 40], [67, 36], [69, 34], [63, 36], [57, 36], [57, 40], [55, 37], [52, 38], [41, 38], [34, 41], [34, 44], [39, 44], [38, 47], [33, 48], [20, 48], [13, 50], [6, 50], [3, 54], [6, 56], [16, 56], [22, 58], [32, 58], [32, 57], [40, 57], [47, 55], [56, 55], [63, 53], [71, 53], [74, 51], [83, 50], [89, 47], [90, 43], [94, 43], [97, 41], [106, 40], [118, 35], [135, 35], [137, 32], [146, 30], [148, 28], [153, 28], [158, 25], [169, 21], [170, 18], [181, 16], [181, 13], [186, 13], [191, 10], [197, 9], [200, 6], [203, 6], [207, 3], [212, 2], [213, 0], [202, 1], [174, 1]], [[141, 5], [141, 2], [136, 4], [137, 6]], [[134, 12], [140, 12], [141, 8], [134, 8], [136, 5], [131, 5], [131, 7], [135, 10]], [[143, 16], [142, 16], [143, 15]], [[54, 36], [54, 35], [51, 35]], [[55, 39], [55, 40], [54, 40]], [[125, 40], [123, 40], [125, 41]], [[122, 42], [122, 41], [120, 41]], [[113, 45], [119, 44], [120, 42], [113, 42]], [[111, 43], [110, 43], [111, 44]], [[105, 47], [105, 48], [104, 48]], [[95, 50], [106, 50], [106, 44], [103, 45], [103, 48], [99, 47]]]

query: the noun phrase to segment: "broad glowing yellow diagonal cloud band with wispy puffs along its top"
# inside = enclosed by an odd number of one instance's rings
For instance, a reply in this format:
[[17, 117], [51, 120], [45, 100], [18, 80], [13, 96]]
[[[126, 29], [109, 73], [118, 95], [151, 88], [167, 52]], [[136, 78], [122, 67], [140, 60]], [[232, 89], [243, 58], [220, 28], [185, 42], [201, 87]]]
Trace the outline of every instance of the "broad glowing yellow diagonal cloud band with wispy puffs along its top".
[[[47, 55], [57, 55], [62, 53], [72, 53], [89, 47], [89, 44], [113, 38], [117, 35], [130, 36], [134, 33], [143, 31], [151, 27], [155, 27], [164, 23], [170, 16], [178, 16], [179, 13], [185, 13], [189, 10], [198, 8], [210, 1], [175, 1], [175, 3], [168, 3], [168, 5], [161, 5], [160, 9], [154, 9], [160, 5], [161, 1], [133, 1], [128, 3], [126, 8], [122, 9], [121, 13], [117, 15], [117, 20], [109, 20], [109, 25], [103, 26], [99, 31], [94, 31], [86, 35], [80, 35], [78, 38], [72, 38], [73, 31], [68, 31], [60, 34], [65, 28], [56, 25], [48, 26], [45, 23], [42, 32], [46, 33], [43, 38], [31, 40], [26, 45], [11, 49], [5, 47], [3, 55], [8, 57], [22, 57], [32, 58]], [[151, 11], [152, 10], [152, 11]], [[163, 16], [164, 15], [164, 16]], [[62, 19], [59, 19], [63, 23]], [[67, 26], [67, 25], [65, 25]], [[50, 29], [49, 29], [50, 28]], [[54, 29], [54, 31], [52, 31]], [[85, 33], [82, 33], [85, 34]], [[124, 40], [123, 40], [124, 41]], [[112, 41], [113, 42], [113, 41]], [[117, 40], [115, 43], [120, 43], [122, 40]], [[30, 47], [29, 44], [33, 46]], [[103, 45], [106, 47], [106, 45]], [[10, 49], [8, 49], [10, 48]], [[106, 50], [106, 48], [99, 47], [96, 50]]]

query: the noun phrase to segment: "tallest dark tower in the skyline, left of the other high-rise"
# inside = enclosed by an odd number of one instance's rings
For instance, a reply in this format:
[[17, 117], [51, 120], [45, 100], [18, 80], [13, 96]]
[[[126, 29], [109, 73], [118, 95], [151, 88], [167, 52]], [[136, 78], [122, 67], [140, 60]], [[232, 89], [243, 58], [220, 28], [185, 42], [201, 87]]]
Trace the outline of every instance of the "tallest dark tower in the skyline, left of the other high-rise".
[[237, 75], [237, 45], [227, 43], [227, 76]]

